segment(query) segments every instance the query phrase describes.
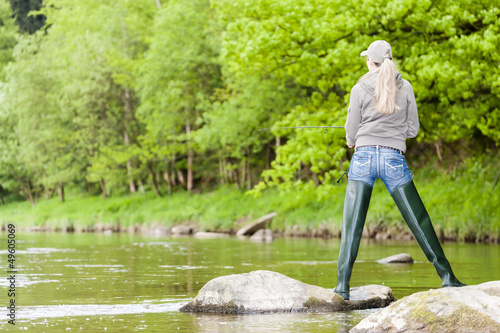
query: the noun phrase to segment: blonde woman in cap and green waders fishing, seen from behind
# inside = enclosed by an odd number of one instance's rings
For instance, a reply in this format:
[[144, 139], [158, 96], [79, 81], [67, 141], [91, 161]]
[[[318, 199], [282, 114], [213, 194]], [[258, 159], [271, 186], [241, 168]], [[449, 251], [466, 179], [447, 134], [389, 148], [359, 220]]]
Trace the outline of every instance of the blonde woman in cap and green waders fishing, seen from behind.
[[352, 266], [377, 178], [384, 182], [443, 287], [464, 286], [444, 255], [403, 155], [406, 138], [416, 137], [419, 128], [413, 89], [397, 72], [386, 41], [373, 42], [361, 55], [367, 57], [369, 72], [351, 90], [345, 124], [347, 145], [355, 152], [348, 173], [335, 292], [349, 299]]

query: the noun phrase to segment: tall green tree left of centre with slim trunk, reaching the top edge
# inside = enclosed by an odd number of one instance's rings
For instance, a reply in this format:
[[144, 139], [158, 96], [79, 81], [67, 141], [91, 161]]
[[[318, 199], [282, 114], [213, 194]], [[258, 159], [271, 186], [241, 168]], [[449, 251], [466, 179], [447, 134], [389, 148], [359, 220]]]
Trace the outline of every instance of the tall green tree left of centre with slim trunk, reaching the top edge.
[[164, 4], [139, 68], [144, 158], [161, 162], [156, 164], [164, 168], [169, 191], [175, 178], [191, 191], [194, 169], [203, 169], [201, 160], [195, 163], [198, 148], [193, 132], [200, 126], [200, 115], [210, 108], [214, 89], [221, 86], [218, 31], [212, 15], [205, 0]]

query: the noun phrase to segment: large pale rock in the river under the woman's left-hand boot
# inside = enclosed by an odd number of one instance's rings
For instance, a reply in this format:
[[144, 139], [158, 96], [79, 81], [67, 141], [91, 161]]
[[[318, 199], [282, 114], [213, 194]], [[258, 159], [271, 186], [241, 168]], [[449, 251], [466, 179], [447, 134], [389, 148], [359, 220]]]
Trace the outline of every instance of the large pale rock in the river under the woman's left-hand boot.
[[196, 298], [180, 310], [232, 314], [346, 311], [379, 308], [394, 301], [388, 287], [365, 286], [351, 290], [352, 300], [345, 301], [332, 289], [262, 270], [210, 280]]

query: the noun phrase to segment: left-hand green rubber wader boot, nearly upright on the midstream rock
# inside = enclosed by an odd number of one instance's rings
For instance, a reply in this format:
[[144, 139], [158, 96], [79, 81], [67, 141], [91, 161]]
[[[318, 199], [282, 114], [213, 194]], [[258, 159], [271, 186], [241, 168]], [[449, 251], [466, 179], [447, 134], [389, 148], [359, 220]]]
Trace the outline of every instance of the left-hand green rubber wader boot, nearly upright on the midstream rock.
[[347, 182], [342, 218], [342, 237], [337, 263], [337, 287], [334, 290], [344, 299], [349, 299], [352, 266], [358, 256], [372, 189], [370, 185], [361, 181], [349, 180]]

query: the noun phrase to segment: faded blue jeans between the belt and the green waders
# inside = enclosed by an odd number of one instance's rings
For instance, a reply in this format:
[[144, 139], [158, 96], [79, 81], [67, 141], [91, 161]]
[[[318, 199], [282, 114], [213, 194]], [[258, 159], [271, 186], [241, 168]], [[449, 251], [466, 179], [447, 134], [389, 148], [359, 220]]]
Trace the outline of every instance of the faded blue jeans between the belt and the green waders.
[[373, 187], [380, 178], [389, 193], [411, 181], [411, 172], [403, 154], [393, 149], [360, 147], [352, 156], [349, 179], [367, 183]]

